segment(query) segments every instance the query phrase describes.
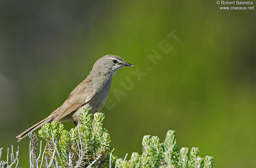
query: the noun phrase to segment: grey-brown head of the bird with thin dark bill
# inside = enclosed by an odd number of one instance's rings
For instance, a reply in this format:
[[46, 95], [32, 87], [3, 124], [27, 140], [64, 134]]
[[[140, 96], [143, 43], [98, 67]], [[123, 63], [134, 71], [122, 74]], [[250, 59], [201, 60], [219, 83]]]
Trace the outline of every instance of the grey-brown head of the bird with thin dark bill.
[[95, 62], [93, 65], [92, 71], [103, 71], [107, 74], [114, 75], [119, 69], [130, 66], [135, 67], [134, 65], [127, 63], [123, 58], [117, 55], [105, 55]]

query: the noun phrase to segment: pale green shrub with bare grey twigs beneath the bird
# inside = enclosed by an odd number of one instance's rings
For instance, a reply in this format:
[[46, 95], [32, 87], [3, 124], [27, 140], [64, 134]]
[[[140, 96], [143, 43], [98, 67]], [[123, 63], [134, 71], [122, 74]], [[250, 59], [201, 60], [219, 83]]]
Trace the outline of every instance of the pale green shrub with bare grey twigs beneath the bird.
[[[38, 145], [36, 134], [29, 134], [30, 167], [99, 167], [99, 168], [213, 168], [213, 157], [199, 157], [199, 148], [181, 148], [176, 145], [176, 133], [169, 130], [164, 142], [157, 136], [145, 135], [142, 139], [142, 154], [133, 152], [130, 160], [113, 155], [115, 149], [110, 146], [108, 130], [103, 128], [104, 114], [89, 114], [83, 109], [80, 124], [70, 131], [64, 125], [53, 121], [46, 123], [38, 131], [46, 141], [44, 151], [42, 141]], [[9, 150], [8, 150], [9, 151]], [[2, 149], [0, 149], [1, 159]], [[11, 163], [0, 162], [1, 168], [18, 167], [18, 151], [16, 158], [11, 153]], [[42, 156], [41, 156], [42, 155]], [[57, 157], [59, 159], [57, 159]], [[18, 162], [17, 162], [18, 161]]]

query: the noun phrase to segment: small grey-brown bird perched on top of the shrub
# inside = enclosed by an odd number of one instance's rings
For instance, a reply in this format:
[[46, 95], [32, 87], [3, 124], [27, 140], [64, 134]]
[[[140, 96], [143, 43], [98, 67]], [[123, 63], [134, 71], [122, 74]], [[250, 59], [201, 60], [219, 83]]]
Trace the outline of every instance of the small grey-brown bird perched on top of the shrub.
[[79, 115], [83, 108], [88, 108], [92, 114], [100, 112], [107, 100], [113, 75], [125, 66], [135, 67], [117, 55], [105, 55], [97, 60], [89, 75], [76, 86], [68, 99], [44, 120], [16, 136], [18, 142], [48, 122], [73, 121], [76, 125], [79, 124]]

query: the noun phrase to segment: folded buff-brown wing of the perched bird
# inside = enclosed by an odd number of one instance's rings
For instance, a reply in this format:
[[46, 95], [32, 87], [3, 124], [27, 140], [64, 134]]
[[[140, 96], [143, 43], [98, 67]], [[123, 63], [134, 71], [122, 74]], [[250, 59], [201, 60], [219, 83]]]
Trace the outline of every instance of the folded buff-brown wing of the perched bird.
[[84, 80], [69, 94], [68, 99], [61, 106], [56, 121], [59, 122], [70, 113], [79, 109], [79, 107], [92, 99], [94, 93], [95, 89], [93, 88], [92, 80]]

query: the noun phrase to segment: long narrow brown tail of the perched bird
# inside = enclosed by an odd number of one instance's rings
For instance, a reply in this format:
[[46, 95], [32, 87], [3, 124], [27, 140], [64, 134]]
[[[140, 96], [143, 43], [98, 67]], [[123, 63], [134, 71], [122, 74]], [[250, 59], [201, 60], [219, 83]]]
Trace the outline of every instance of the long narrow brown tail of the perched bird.
[[45, 123], [53, 121], [55, 117], [56, 117], [56, 115], [51, 114], [47, 118], [45, 118], [44, 120], [42, 120], [42, 121], [38, 122], [37, 124], [33, 125], [32, 127], [28, 128], [26, 131], [24, 131], [20, 135], [16, 136], [16, 138], [18, 138], [17, 142], [19, 142], [20, 140], [25, 138], [29, 133], [35, 131], [37, 128], [41, 127]]

